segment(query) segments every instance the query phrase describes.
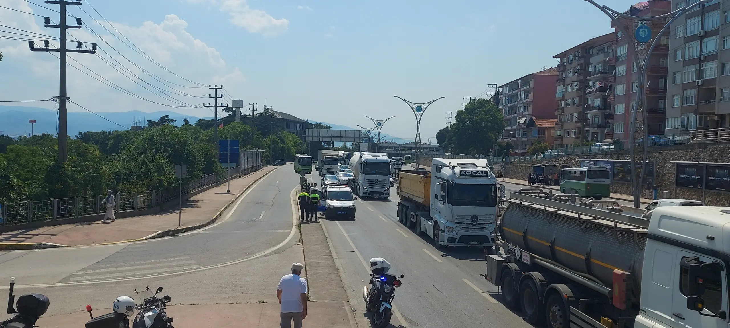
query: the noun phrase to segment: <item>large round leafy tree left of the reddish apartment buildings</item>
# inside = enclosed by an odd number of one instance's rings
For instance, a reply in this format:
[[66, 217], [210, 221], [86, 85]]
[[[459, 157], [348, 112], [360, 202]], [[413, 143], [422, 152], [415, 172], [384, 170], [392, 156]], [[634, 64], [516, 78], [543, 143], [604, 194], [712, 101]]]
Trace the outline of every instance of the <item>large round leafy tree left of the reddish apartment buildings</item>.
[[486, 155], [504, 132], [504, 115], [492, 101], [472, 99], [456, 112], [449, 130], [453, 152]]

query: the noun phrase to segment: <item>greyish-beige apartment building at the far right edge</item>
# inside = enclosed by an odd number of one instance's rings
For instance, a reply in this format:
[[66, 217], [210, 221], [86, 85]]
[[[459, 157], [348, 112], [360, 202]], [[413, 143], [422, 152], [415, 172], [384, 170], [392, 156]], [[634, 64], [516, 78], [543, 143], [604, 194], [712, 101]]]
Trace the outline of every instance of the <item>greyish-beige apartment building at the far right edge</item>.
[[[698, 0], [672, 1], [672, 9]], [[702, 4], [672, 24], [664, 133], [730, 126], [730, 1]]]

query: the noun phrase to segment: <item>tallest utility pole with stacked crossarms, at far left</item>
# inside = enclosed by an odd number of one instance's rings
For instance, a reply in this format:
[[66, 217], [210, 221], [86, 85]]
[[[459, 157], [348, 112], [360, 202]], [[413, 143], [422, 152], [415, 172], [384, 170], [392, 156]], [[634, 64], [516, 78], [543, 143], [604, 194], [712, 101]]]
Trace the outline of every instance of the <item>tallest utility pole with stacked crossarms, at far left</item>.
[[60, 15], [58, 25], [50, 25], [50, 17], [43, 17], [45, 27], [47, 28], [58, 28], [58, 49], [50, 49], [50, 42], [47, 40], [43, 41], [44, 48], [35, 48], [32, 41], [28, 41], [28, 47], [31, 51], [45, 51], [45, 52], [58, 52], [58, 59], [60, 65], [58, 66], [58, 162], [66, 162], [68, 157], [69, 149], [66, 147], [66, 138], [69, 133], [66, 131], [66, 109], [67, 101], [69, 96], [66, 92], [66, 53], [68, 52], [82, 52], [82, 53], [95, 53], [96, 43], [91, 44], [92, 50], [81, 50], [82, 42], [76, 42], [77, 49], [66, 49], [66, 29], [67, 28], [81, 28], [81, 18], [76, 18], [76, 26], [66, 25], [66, 5], [68, 4], [81, 4], [81, 1], [45, 1], [47, 4], [58, 4], [58, 15]]

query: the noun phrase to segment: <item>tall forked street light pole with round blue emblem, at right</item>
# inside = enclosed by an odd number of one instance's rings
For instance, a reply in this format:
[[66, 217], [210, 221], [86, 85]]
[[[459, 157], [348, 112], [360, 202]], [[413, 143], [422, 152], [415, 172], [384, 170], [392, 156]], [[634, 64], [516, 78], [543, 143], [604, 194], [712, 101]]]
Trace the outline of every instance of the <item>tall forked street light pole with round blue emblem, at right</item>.
[[[650, 16], [650, 17], [639, 17], [639, 16], [633, 16], [633, 15], [627, 15], [622, 12], [617, 12], [614, 9], [611, 9], [607, 6], [601, 6], [599, 4], [596, 4], [596, 1], [593, 0], [583, 0], [590, 4], [593, 4], [596, 8], [600, 9], [604, 14], [606, 14], [612, 21], [612, 23], [615, 24], [616, 27], [618, 27], [619, 31], [623, 33], [623, 35], [631, 40], [631, 50], [634, 51], [634, 64], [637, 66], [638, 70], [638, 92], [637, 92], [637, 99], [634, 102], [634, 107], [632, 108], [631, 113], [631, 130], [629, 130], [629, 149], [630, 149], [630, 156], [631, 156], [631, 163], [629, 167], [631, 168], [631, 189], [634, 193], [634, 207], [641, 206], [641, 188], [644, 181], [644, 175], [645, 175], [645, 168], [646, 168], [646, 157], [648, 152], [648, 128], [647, 128], [647, 121], [648, 121], [648, 113], [646, 111], [646, 94], [644, 91], [645, 88], [645, 81], [646, 81], [646, 69], [649, 63], [649, 58], [651, 56], [651, 52], [654, 50], [654, 47], [656, 46], [657, 42], [661, 39], [661, 35], [664, 34], [664, 31], [666, 31], [669, 26], [672, 25], [672, 23], [677, 20], [678, 17], [682, 16], [685, 12], [687, 12], [689, 9], [701, 6], [703, 4], [706, 4], [709, 1], [712, 0], [700, 0], [694, 4], [691, 4], [687, 7], [682, 7], [680, 9], [677, 9], [673, 12], [666, 13], [664, 15], [658, 15], [658, 16]], [[650, 27], [647, 26], [647, 23], [650, 23], [654, 20], [661, 20], [666, 21], [669, 18], [669, 21], [667, 21], [664, 26], [662, 26], [661, 30], [659, 31], [656, 36], [652, 35], [652, 30]], [[630, 21], [630, 23], [629, 23]], [[623, 23], [626, 23], [626, 26], [623, 26]], [[636, 26], [635, 33], [629, 34], [628, 32], [628, 26], [634, 27]], [[650, 43], [649, 43], [650, 42]], [[647, 44], [649, 46], [647, 47]], [[642, 63], [639, 59], [639, 56], [642, 56], [644, 62]], [[642, 106], [639, 106], [642, 105]], [[642, 109], [642, 130], [643, 130], [643, 142], [642, 142], [642, 161], [641, 161], [641, 171], [639, 172], [638, 181], [637, 181], [637, 172], [636, 172], [636, 132], [637, 132], [637, 112], [639, 111], [639, 108]]]

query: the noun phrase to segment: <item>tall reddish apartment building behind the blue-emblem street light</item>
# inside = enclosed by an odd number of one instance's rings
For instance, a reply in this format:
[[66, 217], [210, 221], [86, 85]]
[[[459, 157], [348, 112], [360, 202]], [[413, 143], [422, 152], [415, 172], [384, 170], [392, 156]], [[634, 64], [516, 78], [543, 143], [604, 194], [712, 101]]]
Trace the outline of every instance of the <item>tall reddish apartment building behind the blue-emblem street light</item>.
[[[669, 0], [639, 2], [629, 7], [629, 10], [624, 13], [639, 17], [664, 15], [671, 11], [671, 2]], [[663, 23], [650, 23], [648, 26], [652, 29], [652, 35], [657, 35], [661, 31]], [[608, 102], [612, 103], [613, 107], [613, 118], [608, 121], [607, 126], [609, 128], [606, 131], [606, 138], [612, 138], [613, 142], [621, 143], [626, 147], [629, 141], [629, 130], [631, 130], [631, 114], [633, 114], [632, 111], [639, 90], [639, 74], [634, 63], [634, 51], [629, 50], [629, 47], [633, 47], [631, 44], [632, 38], [624, 36], [618, 26], [615, 26], [615, 23], [612, 22], [611, 27], [614, 28], [615, 50], [608, 62], [615, 65], [615, 82], [611, 86], [612, 90], [610, 90], [611, 93], [608, 97]], [[633, 24], [628, 29], [628, 33], [633, 33]], [[664, 133], [669, 31], [657, 37], [660, 38], [660, 41], [654, 47], [649, 58], [644, 90], [646, 95], [645, 110], [648, 113], [645, 130], [648, 131], [649, 135]], [[643, 64], [643, 61], [640, 64]], [[641, 130], [643, 125], [643, 117], [639, 112], [637, 113], [637, 130]], [[637, 136], [637, 138], [640, 138], [640, 136]]]

